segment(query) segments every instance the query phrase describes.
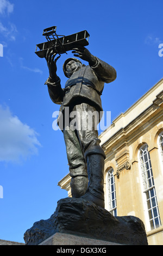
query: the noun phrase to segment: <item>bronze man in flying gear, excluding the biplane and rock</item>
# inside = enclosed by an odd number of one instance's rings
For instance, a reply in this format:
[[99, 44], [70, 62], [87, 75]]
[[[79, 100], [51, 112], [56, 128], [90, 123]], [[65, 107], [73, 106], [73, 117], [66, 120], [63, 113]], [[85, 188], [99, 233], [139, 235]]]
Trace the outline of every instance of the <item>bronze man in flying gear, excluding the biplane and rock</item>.
[[[64, 74], [69, 78], [61, 88], [57, 76], [57, 60], [53, 50], [46, 54], [49, 77], [45, 84], [54, 103], [60, 104], [60, 113], [65, 107], [79, 113], [102, 111], [101, 94], [104, 83], [116, 79], [116, 70], [101, 59], [93, 56], [85, 47], [74, 48], [72, 53], [89, 63], [84, 65], [76, 58], [69, 58], [63, 65]], [[80, 115], [81, 113], [81, 115]], [[70, 118], [71, 121], [71, 118]], [[79, 120], [81, 121], [81, 120]], [[72, 197], [82, 198], [104, 208], [104, 159], [105, 154], [98, 138], [97, 122], [92, 129], [62, 129], [71, 176]], [[89, 181], [89, 182], [88, 182]]]

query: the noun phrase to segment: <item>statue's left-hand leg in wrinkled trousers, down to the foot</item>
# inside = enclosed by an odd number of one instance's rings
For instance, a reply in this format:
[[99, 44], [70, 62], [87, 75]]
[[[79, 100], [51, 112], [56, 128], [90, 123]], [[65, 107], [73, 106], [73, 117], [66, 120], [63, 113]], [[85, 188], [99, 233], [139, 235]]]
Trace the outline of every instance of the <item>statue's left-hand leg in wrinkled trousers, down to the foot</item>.
[[88, 179], [86, 161], [80, 148], [76, 131], [71, 129], [64, 130], [64, 139], [71, 176], [71, 194], [72, 197], [78, 198], [85, 194], [87, 188]]

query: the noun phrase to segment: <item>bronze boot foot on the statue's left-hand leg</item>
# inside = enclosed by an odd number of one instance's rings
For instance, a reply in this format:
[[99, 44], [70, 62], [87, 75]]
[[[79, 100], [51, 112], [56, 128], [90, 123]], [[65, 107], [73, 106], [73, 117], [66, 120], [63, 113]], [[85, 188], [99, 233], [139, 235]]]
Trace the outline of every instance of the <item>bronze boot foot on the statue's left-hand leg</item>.
[[87, 184], [87, 176], [75, 176], [71, 178], [70, 186], [72, 197], [82, 197], [86, 192]]

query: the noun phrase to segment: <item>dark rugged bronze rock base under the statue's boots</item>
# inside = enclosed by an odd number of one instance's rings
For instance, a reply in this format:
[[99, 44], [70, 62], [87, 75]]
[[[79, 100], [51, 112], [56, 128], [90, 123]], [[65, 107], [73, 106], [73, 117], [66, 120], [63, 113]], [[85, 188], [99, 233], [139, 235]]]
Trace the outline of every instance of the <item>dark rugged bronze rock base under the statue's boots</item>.
[[48, 220], [35, 222], [24, 234], [26, 245], [39, 245], [55, 233], [65, 233], [90, 239], [148, 245], [145, 226], [134, 216], [114, 217], [109, 211], [80, 198], [58, 201]]

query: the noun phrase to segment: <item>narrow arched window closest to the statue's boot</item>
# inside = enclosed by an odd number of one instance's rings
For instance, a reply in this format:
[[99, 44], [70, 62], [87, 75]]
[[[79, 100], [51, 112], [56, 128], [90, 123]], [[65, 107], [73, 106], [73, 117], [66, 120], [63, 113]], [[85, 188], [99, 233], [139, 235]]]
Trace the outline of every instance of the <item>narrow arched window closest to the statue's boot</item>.
[[116, 190], [115, 190], [115, 178], [113, 175], [114, 169], [110, 169], [108, 172], [107, 186], [108, 186], [108, 206], [109, 211], [113, 216], [117, 216], [117, 203], [116, 203]]

